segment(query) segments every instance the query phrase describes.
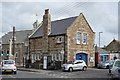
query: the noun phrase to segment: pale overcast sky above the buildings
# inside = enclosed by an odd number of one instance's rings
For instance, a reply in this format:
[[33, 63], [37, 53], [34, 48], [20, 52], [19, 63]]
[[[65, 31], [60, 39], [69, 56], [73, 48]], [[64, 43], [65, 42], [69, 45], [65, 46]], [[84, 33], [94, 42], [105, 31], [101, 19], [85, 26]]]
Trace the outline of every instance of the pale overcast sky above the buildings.
[[101, 34], [101, 46], [107, 45], [113, 38], [118, 39], [118, 2], [2, 2], [2, 33], [16, 30], [33, 29], [33, 22], [42, 21], [45, 9], [50, 10], [53, 20], [78, 16], [83, 13], [88, 23], [96, 32], [95, 44], [98, 44], [98, 33]]

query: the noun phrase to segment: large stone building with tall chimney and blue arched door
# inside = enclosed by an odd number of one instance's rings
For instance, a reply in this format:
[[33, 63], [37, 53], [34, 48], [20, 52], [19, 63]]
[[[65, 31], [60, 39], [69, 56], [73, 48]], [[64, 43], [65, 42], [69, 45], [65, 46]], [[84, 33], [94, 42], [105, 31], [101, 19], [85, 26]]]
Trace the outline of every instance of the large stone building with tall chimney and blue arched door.
[[[41, 26], [29, 36], [29, 52], [32, 63], [57, 63], [84, 60], [90, 67], [95, 66], [95, 32], [82, 13], [79, 16], [51, 21], [49, 10], [45, 10]], [[50, 65], [48, 64], [48, 66]], [[58, 66], [59, 65], [59, 66]]]

